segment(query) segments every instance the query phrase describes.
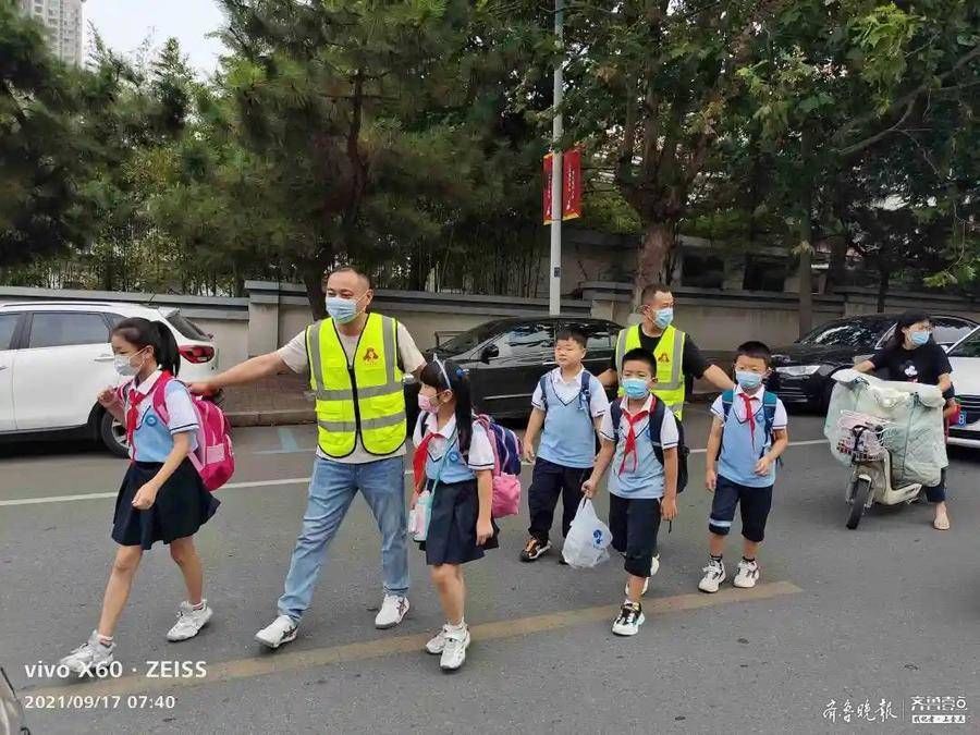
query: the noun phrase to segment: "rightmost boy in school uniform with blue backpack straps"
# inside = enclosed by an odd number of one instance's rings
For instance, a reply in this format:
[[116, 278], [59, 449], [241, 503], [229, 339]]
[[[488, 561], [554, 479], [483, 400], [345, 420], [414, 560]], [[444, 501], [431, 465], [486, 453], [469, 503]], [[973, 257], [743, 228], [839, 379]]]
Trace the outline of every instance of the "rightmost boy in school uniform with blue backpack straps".
[[722, 555], [736, 505], [742, 506], [743, 551], [734, 585], [755, 587], [760, 577], [756, 554], [772, 506], [776, 460], [789, 443], [786, 408], [762, 384], [771, 371], [769, 347], [746, 342], [735, 358], [735, 390], [711, 406], [705, 485], [714, 499], [708, 519], [710, 556], [698, 584], [702, 592], [716, 592], [725, 580]]

